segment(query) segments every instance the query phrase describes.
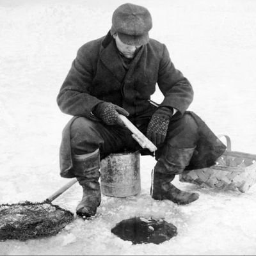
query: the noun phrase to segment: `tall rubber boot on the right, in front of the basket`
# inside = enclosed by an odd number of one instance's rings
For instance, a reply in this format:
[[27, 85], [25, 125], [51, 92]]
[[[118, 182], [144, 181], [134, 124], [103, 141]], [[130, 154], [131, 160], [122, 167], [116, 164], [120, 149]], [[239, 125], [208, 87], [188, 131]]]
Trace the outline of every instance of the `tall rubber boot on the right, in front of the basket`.
[[171, 183], [175, 175], [182, 173], [189, 164], [193, 151], [194, 148], [169, 148], [168, 157], [158, 159], [152, 170], [152, 198], [171, 200], [175, 204], [189, 204], [199, 198], [198, 193], [181, 191]]

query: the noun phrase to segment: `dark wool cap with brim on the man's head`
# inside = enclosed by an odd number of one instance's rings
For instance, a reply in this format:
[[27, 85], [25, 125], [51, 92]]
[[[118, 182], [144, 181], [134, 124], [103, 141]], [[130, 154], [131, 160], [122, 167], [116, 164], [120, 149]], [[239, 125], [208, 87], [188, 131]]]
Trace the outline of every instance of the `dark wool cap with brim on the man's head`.
[[152, 28], [152, 17], [147, 8], [126, 3], [116, 8], [112, 16], [111, 35], [117, 33], [124, 44], [145, 45], [148, 31]]

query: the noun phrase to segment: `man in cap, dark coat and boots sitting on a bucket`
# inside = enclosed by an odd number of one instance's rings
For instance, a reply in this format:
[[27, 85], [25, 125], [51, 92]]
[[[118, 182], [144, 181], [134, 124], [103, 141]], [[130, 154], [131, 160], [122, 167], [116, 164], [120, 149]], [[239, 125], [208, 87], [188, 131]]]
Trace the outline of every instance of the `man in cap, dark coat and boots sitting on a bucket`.
[[[57, 102], [74, 116], [63, 130], [61, 177], [76, 177], [83, 187], [77, 216], [94, 216], [100, 205], [100, 160], [111, 153], [142, 150], [119, 114], [136, 125], [156, 146], [150, 195], [155, 200], [189, 204], [198, 193], [180, 191], [171, 183], [184, 170], [215, 163], [225, 145], [195, 113], [188, 79], [175, 68], [166, 45], [149, 38], [152, 17], [147, 8], [119, 6], [107, 35], [79, 48]], [[164, 95], [150, 104], [156, 84]]]

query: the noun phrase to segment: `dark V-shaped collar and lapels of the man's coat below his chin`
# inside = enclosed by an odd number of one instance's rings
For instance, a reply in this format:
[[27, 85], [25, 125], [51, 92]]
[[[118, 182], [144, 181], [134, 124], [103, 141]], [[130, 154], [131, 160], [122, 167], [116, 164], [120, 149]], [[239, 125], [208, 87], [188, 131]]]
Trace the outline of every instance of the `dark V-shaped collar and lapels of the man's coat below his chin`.
[[113, 39], [113, 36], [109, 36], [111, 35], [108, 33], [108, 35], [102, 42], [103, 47], [102, 52], [100, 53], [100, 60], [104, 63], [106, 68], [111, 71], [113, 76], [115, 76], [120, 83], [123, 83], [124, 79], [127, 79], [127, 77], [132, 75], [132, 71], [134, 70], [136, 64], [141, 58], [144, 46], [141, 47], [140, 51], [138, 51], [138, 53], [131, 62], [129, 70], [126, 71], [122, 65], [122, 61], [120, 60], [115, 40]]

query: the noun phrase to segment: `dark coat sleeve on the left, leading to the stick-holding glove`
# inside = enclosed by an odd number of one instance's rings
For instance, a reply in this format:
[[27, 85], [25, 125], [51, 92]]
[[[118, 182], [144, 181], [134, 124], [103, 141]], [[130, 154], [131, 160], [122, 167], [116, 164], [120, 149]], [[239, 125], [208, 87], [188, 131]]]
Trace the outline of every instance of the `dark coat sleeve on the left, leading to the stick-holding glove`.
[[68, 115], [92, 118], [93, 107], [102, 102], [102, 100], [90, 95], [93, 63], [95, 62], [90, 48], [92, 48], [90, 45], [83, 45], [79, 48], [76, 59], [72, 62], [57, 96], [58, 106], [63, 113]]

